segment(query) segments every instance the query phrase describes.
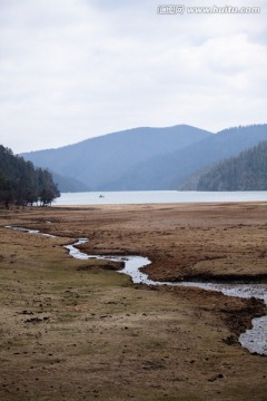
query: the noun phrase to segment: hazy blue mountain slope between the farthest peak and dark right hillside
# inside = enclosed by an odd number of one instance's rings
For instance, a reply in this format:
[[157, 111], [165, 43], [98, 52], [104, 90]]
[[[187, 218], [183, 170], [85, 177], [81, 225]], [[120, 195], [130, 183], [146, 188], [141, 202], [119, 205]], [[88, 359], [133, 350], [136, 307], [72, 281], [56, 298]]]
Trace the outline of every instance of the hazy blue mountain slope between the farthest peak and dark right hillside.
[[177, 189], [198, 169], [267, 140], [267, 125], [235, 127], [192, 145], [139, 163], [107, 189]]

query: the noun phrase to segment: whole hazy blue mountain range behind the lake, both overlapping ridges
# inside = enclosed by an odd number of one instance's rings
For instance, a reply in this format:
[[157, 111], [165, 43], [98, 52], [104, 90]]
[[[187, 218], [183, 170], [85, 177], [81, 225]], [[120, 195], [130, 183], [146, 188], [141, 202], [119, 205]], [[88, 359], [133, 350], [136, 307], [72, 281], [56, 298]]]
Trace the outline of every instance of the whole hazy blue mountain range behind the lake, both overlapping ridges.
[[23, 157], [91, 190], [178, 189], [197, 170], [263, 140], [267, 140], [266, 124], [217, 134], [178, 125], [129, 129]]

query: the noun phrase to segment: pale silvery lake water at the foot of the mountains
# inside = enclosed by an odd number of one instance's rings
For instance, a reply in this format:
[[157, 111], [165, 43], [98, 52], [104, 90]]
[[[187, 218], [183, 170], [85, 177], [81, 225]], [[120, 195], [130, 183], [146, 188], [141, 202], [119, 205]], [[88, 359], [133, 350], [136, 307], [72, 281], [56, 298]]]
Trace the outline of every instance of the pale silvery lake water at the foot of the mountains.
[[267, 202], [267, 190], [195, 192], [195, 190], [132, 190], [62, 193], [53, 205], [119, 205], [150, 203]]

